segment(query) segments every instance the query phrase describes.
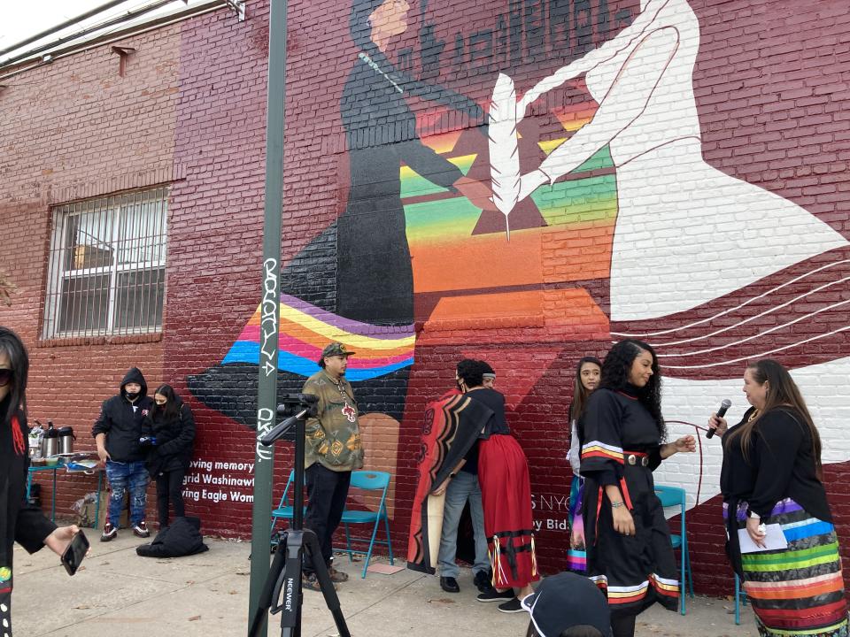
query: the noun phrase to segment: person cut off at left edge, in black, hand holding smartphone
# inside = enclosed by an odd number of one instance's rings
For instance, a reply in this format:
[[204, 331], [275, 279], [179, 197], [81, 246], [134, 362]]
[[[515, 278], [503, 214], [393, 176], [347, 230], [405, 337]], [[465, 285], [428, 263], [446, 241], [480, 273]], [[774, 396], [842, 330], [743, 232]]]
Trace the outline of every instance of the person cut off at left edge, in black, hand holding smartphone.
[[30, 553], [47, 546], [62, 556], [80, 529], [57, 527], [27, 505], [27, 375], [29, 357], [18, 334], [0, 326], [0, 625], [12, 637], [12, 545]]

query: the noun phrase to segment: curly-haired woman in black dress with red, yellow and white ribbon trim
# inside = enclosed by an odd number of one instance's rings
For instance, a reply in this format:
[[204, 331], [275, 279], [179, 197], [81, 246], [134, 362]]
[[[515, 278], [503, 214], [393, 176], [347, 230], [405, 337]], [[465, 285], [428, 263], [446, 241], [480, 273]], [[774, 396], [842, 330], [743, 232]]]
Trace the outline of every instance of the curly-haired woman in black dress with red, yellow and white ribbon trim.
[[677, 610], [679, 579], [653, 470], [693, 436], [665, 443], [658, 358], [644, 342], [614, 345], [579, 420], [587, 573], [607, 593], [614, 637], [631, 637], [638, 614]]

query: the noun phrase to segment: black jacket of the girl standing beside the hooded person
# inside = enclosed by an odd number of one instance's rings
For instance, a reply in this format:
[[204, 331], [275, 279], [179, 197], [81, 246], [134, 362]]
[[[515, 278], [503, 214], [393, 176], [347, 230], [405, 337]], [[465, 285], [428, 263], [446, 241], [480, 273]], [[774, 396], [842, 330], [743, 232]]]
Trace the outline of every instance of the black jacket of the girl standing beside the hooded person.
[[175, 397], [177, 414], [171, 418], [158, 411], [156, 407], [145, 418], [145, 434], [156, 437], [157, 444], [148, 455], [148, 471], [156, 477], [161, 472], [189, 469], [192, 459], [192, 446], [195, 442], [195, 418], [189, 405]]

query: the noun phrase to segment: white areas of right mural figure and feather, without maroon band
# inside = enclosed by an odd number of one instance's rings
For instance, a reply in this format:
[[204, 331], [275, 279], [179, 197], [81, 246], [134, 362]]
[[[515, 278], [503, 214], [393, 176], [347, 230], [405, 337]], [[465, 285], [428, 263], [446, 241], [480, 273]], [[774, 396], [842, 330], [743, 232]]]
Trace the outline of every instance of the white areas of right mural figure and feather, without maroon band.
[[[754, 282], [848, 244], [796, 203], [731, 177], [704, 160], [692, 83], [698, 50], [699, 21], [686, 0], [645, 0], [629, 27], [524, 95], [505, 74], [494, 88], [490, 111], [493, 200], [508, 226], [517, 202], [575, 170], [606, 145], [610, 149], [618, 198], [610, 274], [612, 340], [634, 335], [654, 345], [653, 341], [669, 335], [645, 330], [625, 334], [618, 332], [617, 324], [646, 321], [645, 325], [652, 325], [653, 320], [723, 295], [736, 291], [749, 295], [744, 288]], [[581, 76], [598, 110], [537, 170], [520, 174], [516, 125], [539, 96]], [[517, 99], [517, 94], [522, 97]], [[723, 245], [723, 257], [718, 257], [718, 245]], [[728, 335], [723, 336], [724, 343]], [[712, 349], [709, 336], [694, 345], [706, 349], [707, 357]], [[771, 356], [767, 333], [762, 349], [759, 354]], [[739, 380], [746, 361], [725, 362], [739, 363], [740, 375], [694, 380], [676, 377], [676, 370], [669, 370], [664, 380], [665, 417], [704, 425], [728, 397], [733, 402], [728, 417], [737, 422], [748, 406]], [[663, 358], [661, 365], [665, 365]], [[850, 416], [850, 401], [842, 397], [847, 395], [850, 358], [800, 366], [792, 370], [792, 376], [821, 430], [823, 461], [850, 459], [850, 441], [842, 433]], [[694, 433], [692, 426], [676, 423], [669, 429], [671, 439]], [[698, 485], [699, 502], [716, 495], [720, 445], [703, 440], [702, 452], [701, 462], [676, 457], [676, 462], [662, 465], [657, 480], [685, 487], [692, 504]]]

